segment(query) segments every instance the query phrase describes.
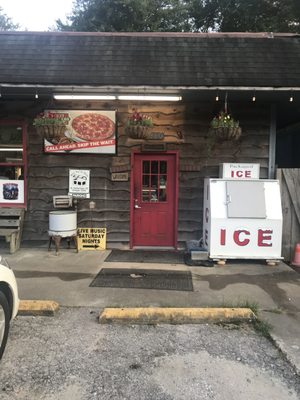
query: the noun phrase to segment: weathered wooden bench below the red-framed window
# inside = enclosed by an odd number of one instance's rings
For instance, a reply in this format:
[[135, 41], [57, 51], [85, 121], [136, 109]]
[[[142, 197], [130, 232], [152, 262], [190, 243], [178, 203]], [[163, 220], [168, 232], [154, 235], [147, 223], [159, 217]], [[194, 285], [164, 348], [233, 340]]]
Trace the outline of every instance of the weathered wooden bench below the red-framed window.
[[20, 248], [24, 215], [23, 208], [0, 208], [0, 236], [10, 243], [10, 253]]

